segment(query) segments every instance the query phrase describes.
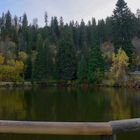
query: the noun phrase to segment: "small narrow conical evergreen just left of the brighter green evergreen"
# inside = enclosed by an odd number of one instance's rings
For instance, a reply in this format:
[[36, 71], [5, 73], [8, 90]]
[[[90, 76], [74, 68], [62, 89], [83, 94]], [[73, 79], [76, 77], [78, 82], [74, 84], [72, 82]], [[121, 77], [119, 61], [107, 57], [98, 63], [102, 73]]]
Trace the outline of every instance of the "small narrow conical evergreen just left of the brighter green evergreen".
[[80, 82], [84, 82], [85, 80], [87, 80], [87, 70], [88, 70], [87, 61], [85, 57], [82, 56], [78, 64], [78, 73], [77, 73], [77, 77]]

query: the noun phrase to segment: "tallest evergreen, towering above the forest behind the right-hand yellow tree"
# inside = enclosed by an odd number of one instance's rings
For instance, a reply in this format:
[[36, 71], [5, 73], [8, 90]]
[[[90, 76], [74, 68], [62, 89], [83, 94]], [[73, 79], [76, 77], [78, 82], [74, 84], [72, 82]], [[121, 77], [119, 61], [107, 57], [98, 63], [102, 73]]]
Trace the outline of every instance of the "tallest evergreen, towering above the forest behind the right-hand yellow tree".
[[134, 36], [134, 14], [124, 0], [118, 0], [112, 16], [112, 35], [115, 51], [122, 48], [132, 61]]

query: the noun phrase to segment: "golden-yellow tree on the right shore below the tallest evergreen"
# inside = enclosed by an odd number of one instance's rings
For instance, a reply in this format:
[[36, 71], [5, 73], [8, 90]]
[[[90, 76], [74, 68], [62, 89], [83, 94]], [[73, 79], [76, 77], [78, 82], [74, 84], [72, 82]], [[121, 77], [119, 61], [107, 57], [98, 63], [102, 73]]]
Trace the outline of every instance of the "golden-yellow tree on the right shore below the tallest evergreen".
[[114, 80], [115, 84], [122, 86], [127, 80], [129, 58], [123, 49], [119, 49], [117, 54], [113, 54], [112, 62], [110, 76]]

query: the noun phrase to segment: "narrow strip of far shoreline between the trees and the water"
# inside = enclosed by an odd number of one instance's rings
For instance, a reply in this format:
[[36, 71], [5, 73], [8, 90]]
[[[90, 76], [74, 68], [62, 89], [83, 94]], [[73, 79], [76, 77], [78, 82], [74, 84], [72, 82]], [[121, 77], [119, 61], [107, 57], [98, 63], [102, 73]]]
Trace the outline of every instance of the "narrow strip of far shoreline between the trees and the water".
[[88, 84], [88, 83], [76, 83], [76, 82], [71, 82], [71, 83], [66, 83], [66, 82], [0, 82], [0, 88], [32, 88], [32, 87], [107, 87], [107, 88], [132, 88], [132, 89], [140, 89], [139, 84], [135, 85], [107, 85], [107, 84]]

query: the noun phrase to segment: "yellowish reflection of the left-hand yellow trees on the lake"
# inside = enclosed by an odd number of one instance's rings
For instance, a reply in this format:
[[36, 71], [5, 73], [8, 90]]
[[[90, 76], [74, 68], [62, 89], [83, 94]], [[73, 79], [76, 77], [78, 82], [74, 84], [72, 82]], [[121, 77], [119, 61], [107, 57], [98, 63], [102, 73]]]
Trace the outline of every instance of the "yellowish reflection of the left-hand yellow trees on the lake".
[[24, 120], [26, 116], [25, 106], [23, 91], [0, 90], [0, 119]]

